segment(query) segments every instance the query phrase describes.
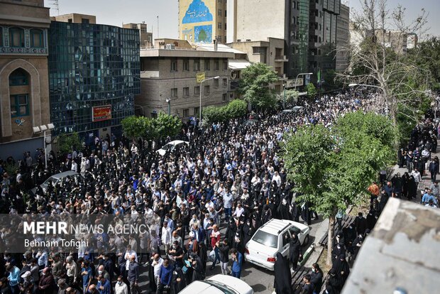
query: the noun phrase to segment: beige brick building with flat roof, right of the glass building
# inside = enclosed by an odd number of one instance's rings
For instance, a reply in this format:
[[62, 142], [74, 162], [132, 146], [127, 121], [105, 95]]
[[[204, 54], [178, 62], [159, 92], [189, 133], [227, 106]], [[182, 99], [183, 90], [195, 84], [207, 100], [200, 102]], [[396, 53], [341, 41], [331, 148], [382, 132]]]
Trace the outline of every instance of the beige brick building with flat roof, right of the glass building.
[[[187, 43], [186, 41], [180, 41]], [[156, 43], [157, 40], [156, 40]], [[228, 99], [228, 60], [233, 53], [185, 48], [141, 50], [141, 94], [136, 96], [136, 112], [155, 117], [160, 111], [187, 119], [199, 116], [202, 107], [222, 105]], [[205, 79], [202, 89], [197, 74]]]

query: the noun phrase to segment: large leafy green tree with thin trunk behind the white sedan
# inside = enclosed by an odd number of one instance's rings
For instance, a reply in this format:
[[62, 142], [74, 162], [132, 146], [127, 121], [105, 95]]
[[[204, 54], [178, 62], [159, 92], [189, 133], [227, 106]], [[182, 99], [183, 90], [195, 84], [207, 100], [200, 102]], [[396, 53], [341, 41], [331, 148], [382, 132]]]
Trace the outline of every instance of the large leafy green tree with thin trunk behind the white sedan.
[[333, 248], [336, 213], [361, 202], [378, 170], [392, 162], [396, 134], [385, 116], [357, 112], [340, 117], [331, 130], [302, 126], [287, 138], [282, 154], [287, 176], [295, 192], [302, 193], [299, 201], [310, 202], [312, 209], [329, 217], [328, 248]]

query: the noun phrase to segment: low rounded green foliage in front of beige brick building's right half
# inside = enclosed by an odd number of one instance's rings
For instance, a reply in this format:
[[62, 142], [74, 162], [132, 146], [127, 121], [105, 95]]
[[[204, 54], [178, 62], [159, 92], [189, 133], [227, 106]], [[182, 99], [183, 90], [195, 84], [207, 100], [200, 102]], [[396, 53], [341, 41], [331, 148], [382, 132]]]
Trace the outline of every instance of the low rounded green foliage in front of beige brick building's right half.
[[205, 107], [202, 110], [202, 116], [204, 121], [221, 122], [244, 116], [247, 112], [248, 104], [246, 101], [235, 99], [222, 107]]

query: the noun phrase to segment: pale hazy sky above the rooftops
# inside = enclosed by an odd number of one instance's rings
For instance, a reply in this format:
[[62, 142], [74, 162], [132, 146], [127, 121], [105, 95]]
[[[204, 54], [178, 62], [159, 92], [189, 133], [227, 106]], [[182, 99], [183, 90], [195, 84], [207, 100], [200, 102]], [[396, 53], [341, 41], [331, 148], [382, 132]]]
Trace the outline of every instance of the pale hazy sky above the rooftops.
[[[212, 1], [212, 0], [211, 0]], [[278, 0], [283, 1], [283, 0]], [[50, 15], [56, 15], [53, 2], [45, 0], [50, 7]], [[359, 8], [359, 0], [342, 0], [350, 8]], [[388, 0], [390, 9], [398, 4], [407, 8], [409, 20], [417, 17], [422, 8], [429, 12], [428, 25], [431, 35], [440, 36], [440, 0]], [[145, 21], [148, 31], [153, 29], [153, 38], [177, 38], [177, 0], [58, 0], [60, 14], [84, 13], [97, 16], [97, 23], [121, 26], [122, 23], [141, 23]]]

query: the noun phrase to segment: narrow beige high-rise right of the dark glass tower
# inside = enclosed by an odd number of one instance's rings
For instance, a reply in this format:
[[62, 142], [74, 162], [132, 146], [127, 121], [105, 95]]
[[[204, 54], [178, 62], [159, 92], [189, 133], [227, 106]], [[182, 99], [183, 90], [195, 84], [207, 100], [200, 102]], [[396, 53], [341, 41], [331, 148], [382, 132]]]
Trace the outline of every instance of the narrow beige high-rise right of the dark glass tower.
[[350, 8], [341, 4], [341, 13], [336, 23], [336, 71], [348, 68], [348, 47], [350, 46]]

